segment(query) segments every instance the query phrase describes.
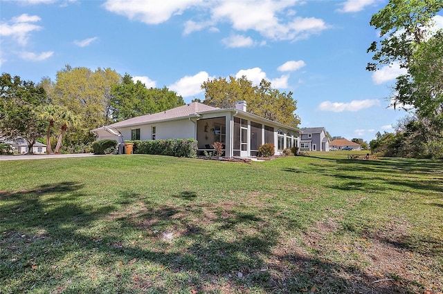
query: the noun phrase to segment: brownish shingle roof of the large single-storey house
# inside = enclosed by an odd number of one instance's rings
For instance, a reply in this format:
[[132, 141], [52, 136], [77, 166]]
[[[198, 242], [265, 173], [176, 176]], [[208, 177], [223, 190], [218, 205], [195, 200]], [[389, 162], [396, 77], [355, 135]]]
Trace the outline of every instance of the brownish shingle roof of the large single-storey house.
[[167, 119], [174, 119], [179, 117], [188, 117], [198, 112], [216, 110], [219, 108], [201, 104], [199, 102], [192, 102], [188, 105], [179, 106], [170, 110], [157, 112], [152, 115], [141, 115], [140, 117], [132, 117], [132, 119], [126, 119], [125, 121], [118, 121], [115, 124], [111, 124], [114, 128], [121, 128], [123, 126], [132, 126], [136, 124], [145, 124], [153, 121], [163, 121]]

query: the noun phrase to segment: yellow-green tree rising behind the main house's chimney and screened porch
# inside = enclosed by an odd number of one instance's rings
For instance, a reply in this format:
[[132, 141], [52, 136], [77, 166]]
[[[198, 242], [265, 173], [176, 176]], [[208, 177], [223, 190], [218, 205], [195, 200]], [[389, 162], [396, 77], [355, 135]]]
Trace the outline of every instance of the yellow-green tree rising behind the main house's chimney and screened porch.
[[233, 108], [240, 100], [246, 101], [247, 111], [266, 119], [278, 121], [287, 126], [297, 127], [300, 118], [296, 115], [297, 101], [292, 92], [280, 92], [271, 88], [271, 82], [262, 79], [259, 86], [245, 76], [235, 79], [219, 77], [205, 81], [201, 88], [205, 90], [204, 104], [219, 108]]

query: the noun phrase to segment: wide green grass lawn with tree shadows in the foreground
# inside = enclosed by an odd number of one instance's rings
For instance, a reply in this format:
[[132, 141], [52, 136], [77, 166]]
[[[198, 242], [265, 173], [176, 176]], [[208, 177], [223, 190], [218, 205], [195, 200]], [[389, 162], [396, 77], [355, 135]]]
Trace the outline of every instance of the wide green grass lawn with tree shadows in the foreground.
[[443, 161], [0, 161], [0, 293], [443, 291]]

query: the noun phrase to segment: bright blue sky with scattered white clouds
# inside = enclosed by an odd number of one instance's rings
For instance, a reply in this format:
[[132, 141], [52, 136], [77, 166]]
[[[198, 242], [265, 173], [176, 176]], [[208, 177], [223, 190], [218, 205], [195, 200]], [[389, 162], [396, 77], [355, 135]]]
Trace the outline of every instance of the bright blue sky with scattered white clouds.
[[[300, 127], [370, 141], [392, 132], [397, 64], [377, 72], [369, 22], [387, 0], [0, 0], [0, 72], [38, 83], [71, 67], [111, 68], [147, 88], [204, 100], [219, 77], [292, 92]], [[435, 26], [443, 28], [442, 14]]]

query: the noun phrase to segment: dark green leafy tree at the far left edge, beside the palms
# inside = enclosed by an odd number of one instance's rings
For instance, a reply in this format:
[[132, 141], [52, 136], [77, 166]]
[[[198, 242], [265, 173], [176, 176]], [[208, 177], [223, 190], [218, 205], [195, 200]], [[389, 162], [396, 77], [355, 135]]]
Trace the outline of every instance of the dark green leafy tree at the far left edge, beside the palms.
[[43, 137], [46, 122], [40, 119], [37, 106], [48, 104], [46, 92], [33, 81], [21, 81], [3, 73], [0, 79], [0, 133], [3, 137], [22, 137], [28, 144], [28, 153]]

